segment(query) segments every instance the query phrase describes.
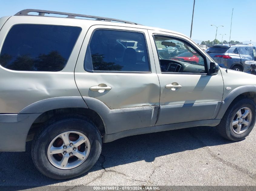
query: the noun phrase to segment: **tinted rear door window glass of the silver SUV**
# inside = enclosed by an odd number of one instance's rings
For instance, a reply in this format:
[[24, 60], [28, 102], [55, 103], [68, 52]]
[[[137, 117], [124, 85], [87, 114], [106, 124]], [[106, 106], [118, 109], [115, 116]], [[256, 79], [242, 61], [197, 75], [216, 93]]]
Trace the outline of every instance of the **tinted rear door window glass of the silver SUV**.
[[95, 30], [86, 50], [84, 69], [88, 72], [150, 72], [144, 34]]

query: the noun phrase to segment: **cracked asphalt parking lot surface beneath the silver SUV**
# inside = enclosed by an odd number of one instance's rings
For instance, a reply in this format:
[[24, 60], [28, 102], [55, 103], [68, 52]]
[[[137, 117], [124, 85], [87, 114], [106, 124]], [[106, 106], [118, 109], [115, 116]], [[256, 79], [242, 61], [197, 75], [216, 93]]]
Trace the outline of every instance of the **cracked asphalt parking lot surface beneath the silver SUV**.
[[239, 142], [221, 138], [214, 127], [135, 135], [104, 143], [85, 175], [52, 180], [26, 152], [0, 153], [0, 186], [80, 185], [256, 185], [256, 127]]

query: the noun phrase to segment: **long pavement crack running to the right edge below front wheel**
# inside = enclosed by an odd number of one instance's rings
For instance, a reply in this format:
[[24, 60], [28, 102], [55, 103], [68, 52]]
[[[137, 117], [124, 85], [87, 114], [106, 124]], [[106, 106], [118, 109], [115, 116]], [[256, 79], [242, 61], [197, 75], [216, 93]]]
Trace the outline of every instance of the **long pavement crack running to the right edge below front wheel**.
[[204, 149], [207, 150], [208, 154], [210, 154], [211, 157], [213, 157], [214, 159], [216, 159], [216, 160], [218, 160], [218, 161], [221, 161], [222, 163], [226, 164], [227, 166], [229, 166], [229, 167], [231, 167], [231, 168], [234, 168], [235, 170], [238, 170], [238, 171], [240, 171], [240, 172], [242, 172], [242, 173], [245, 173], [245, 174], [247, 174], [249, 177], [255, 179], [256, 175], [255, 175], [254, 173], [250, 172], [249, 170], [247, 170], [247, 169], [245, 169], [245, 168], [243, 168], [243, 167], [240, 167], [240, 166], [238, 166], [238, 165], [236, 165], [236, 164], [233, 164], [233, 163], [231, 163], [231, 162], [229, 162], [229, 161], [226, 161], [226, 160], [224, 160], [224, 159], [221, 158], [221, 157], [218, 157], [218, 155], [212, 153], [212, 151], [207, 148], [208, 146], [207, 146], [200, 138], [198, 138], [196, 135], [194, 135], [190, 130], [188, 130], [188, 132], [189, 132], [189, 134], [190, 134], [194, 139], [196, 139], [196, 140], [204, 147]]

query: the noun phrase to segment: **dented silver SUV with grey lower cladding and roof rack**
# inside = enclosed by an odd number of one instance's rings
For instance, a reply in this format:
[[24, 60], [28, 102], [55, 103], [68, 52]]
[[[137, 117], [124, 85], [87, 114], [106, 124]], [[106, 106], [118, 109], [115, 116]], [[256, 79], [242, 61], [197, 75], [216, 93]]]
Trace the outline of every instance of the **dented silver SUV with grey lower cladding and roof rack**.
[[255, 124], [255, 75], [219, 69], [181, 33], [129, 21], [3, 17], [0, 77], [0, 151], [32, 140], [35, 166], [54, 179], [88, 171], [102, 142], [194, 126], [238, 141]]

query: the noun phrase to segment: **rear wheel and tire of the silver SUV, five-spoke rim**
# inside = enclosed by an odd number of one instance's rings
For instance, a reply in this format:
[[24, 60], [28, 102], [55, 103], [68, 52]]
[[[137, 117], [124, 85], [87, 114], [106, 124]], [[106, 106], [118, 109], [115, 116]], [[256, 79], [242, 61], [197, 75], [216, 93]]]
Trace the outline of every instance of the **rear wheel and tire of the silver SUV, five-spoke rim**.
[[101, 153], [101, 135], [82, 116], [63, 116], [45, 124], [35, 135], [32, 159], [35, 167], [53, 179], [69, 179], [84, 174]]

